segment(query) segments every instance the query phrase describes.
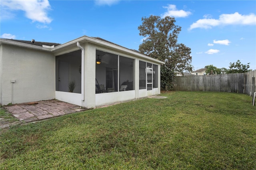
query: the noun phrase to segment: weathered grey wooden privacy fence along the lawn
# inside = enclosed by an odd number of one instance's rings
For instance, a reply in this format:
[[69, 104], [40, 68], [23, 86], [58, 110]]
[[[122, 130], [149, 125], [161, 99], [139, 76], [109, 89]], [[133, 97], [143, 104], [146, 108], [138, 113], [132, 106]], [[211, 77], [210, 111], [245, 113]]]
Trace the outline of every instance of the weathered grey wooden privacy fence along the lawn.
[[247, 73], [177, 76], [174, 90], [238, 92], [250, 95], [252, 88], [256, 91], [256, 82], [252, 82], [252, 77], [256, 77], [256, 70]]

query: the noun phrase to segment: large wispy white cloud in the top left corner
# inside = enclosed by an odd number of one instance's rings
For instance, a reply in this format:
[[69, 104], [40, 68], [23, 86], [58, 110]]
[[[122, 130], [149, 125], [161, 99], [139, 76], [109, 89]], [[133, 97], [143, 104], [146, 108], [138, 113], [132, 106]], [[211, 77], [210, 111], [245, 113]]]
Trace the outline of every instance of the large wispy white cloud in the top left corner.
[[22, 10], [32, 22], [49, 24], [52, 19], [48, 17], [47, 10], [50, 10], [48, 0], [2, 0], [1, 7], [8, 10]]

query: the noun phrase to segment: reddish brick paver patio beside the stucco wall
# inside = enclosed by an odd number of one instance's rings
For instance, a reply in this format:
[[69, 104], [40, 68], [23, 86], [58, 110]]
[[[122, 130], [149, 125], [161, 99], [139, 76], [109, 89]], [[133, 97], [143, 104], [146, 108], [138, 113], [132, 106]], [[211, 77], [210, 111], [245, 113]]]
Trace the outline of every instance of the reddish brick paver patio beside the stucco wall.
[[24, 122], [39, 121], [84, 110], [80, 109], [77, 105], [58, 100], [16, 104], [5, 106], [5, 109], [12, 113], [14, 117]]

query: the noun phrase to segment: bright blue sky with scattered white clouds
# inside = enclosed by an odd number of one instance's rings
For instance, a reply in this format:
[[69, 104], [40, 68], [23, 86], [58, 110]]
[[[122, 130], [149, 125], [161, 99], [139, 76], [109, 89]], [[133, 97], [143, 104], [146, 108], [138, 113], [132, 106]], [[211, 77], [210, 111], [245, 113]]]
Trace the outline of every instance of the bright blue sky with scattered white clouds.
[[66, 43], [85, 35], [138, 50], [138, 26], [150, 15], [175, 18], [194, 70], [237, 60], [256, 69], [255, 0], [1, 0], [0, 37]]

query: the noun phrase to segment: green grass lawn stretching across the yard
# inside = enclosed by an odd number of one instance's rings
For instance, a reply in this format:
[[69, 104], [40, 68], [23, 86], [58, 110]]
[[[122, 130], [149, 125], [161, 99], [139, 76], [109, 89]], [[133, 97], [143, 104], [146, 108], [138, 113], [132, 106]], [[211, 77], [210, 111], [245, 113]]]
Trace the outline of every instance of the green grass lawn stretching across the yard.
[[2, 132], [1, 169], [256, 168], [256, 107], [238, 93], [168, 92]]

